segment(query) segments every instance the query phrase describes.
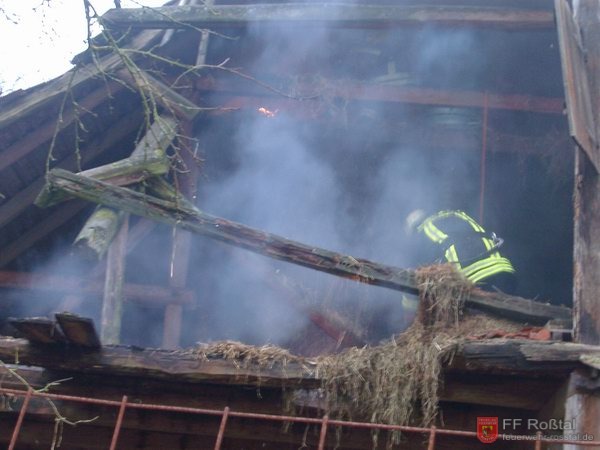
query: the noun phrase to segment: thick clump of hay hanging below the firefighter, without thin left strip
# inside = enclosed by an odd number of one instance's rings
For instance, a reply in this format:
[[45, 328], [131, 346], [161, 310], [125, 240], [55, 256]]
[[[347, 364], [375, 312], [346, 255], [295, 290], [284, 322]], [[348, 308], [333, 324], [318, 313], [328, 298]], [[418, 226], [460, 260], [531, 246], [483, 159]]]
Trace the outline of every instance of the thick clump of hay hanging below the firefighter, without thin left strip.
[[[319, 359], [317, 377], [331, 415], [396, 425], [434, 422], [440, 372], [465, 333], [460, 319], [473, 285], [449, 265], [421, 268], [417, 281], [419, 311], [408, 330], [376, 347]], [[391, 440], [397, 443], [399, 435]]]

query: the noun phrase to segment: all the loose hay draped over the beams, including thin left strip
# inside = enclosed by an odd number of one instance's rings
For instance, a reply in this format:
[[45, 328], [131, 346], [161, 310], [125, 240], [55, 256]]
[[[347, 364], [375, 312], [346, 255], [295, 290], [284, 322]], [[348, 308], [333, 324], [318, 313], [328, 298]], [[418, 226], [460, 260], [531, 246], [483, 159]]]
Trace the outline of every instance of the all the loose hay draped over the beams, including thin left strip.
[[[331, 417], [394, 425], [430, 426], [438, 412], [441, 371], [469, 336], [493, 329], [517, 331], [513, 322], [484, 315], [463, 315], [473, 284], [450, 265], [417, 270], [419, 309], [402, 334], [373, 347], [352, 347], [337, 355], [308, 360], [282, 348], [255, 347], [226, 341], [202, 344], [190, 351], [202, 360], [227, 359], [238, 368], [283, 367], [294, 362], [322, 380], [321, 393]], [[287, 412], [294, 413], [293, 402]], [[374, 448], [377, 433], [373, 434]], [[399, 433], [389, 435], [396, 444]]]

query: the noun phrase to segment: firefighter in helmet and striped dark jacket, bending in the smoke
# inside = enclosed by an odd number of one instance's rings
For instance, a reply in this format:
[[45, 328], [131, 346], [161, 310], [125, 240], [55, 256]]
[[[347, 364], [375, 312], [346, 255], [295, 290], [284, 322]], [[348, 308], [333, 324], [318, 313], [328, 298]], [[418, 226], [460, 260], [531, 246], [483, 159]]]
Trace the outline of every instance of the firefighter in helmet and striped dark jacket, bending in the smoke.
[[510, 260], [500, 254], [503, 240], [495, 233], [486, 233], [463, 211], [440, 211], [422, 220], [424, 216], [422, 210], [409, 214], [407, 229], [414, 229], [418, 224], [416, 231], [433, 244], [439, 262], [454, 264], [482, 289], [514, 293], [515, 269]]

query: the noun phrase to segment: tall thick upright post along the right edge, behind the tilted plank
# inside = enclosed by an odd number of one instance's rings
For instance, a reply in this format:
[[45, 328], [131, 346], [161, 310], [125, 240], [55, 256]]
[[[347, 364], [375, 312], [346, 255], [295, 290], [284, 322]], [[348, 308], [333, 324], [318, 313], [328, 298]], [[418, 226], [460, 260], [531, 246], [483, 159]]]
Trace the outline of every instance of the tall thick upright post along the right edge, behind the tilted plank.
[[[558, 4], [557, 4], [558, 6]], [[587, 72], [588, 92], [592, 93], [593, 117], [583, 117], [587, 123], [596, 122], [600, 132], [600, 3], [596, 0], [573, 2], [574, 17], [581, 30], [586, 64], [580, 70]], [[575, 38], [575, 37], [573, 37]], [[564, 64], [564, 61], [563, 61]], [[577, 73], [573, 74], [575, 79]], [[581, 89], [584, 87], [580, 86]], [[570, 111], [571, 113], [571, 111]], [[595, 120], [594, 120], [595, 119]], [[593, 132], [594, 130], [592, 130]], [[592, 148], [597, 154], [598, 148]], [[578, 147], [575, 157], [575, 232], [573, 311], [575, 339], [584, 344], [600, 344], [600, 175], [588, 154]], [[592, 371], [593, 372], [593, 371]], [[597, 372], [597, 371], [596, 371]], [[574, 433], [600, 437], [600, 389], [582, 389], [577, 382], [587, 374], [573, 373], [567, 393], [565, 419], [573, 420]], [[589, 379], [589, 377], [587, 377]], [[565, 450], [584, 450], [587, 447], [565, 445]]]

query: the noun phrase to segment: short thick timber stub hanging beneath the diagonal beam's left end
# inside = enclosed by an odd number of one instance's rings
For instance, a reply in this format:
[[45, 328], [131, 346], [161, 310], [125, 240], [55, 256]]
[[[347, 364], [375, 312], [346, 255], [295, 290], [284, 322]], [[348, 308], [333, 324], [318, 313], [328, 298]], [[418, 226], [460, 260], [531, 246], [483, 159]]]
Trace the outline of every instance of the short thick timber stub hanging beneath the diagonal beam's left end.
[[73, 245], [87, 259], [100, 260], [117, 234], [123, 213], [106, 206], [98, 206], [75, 238]]

